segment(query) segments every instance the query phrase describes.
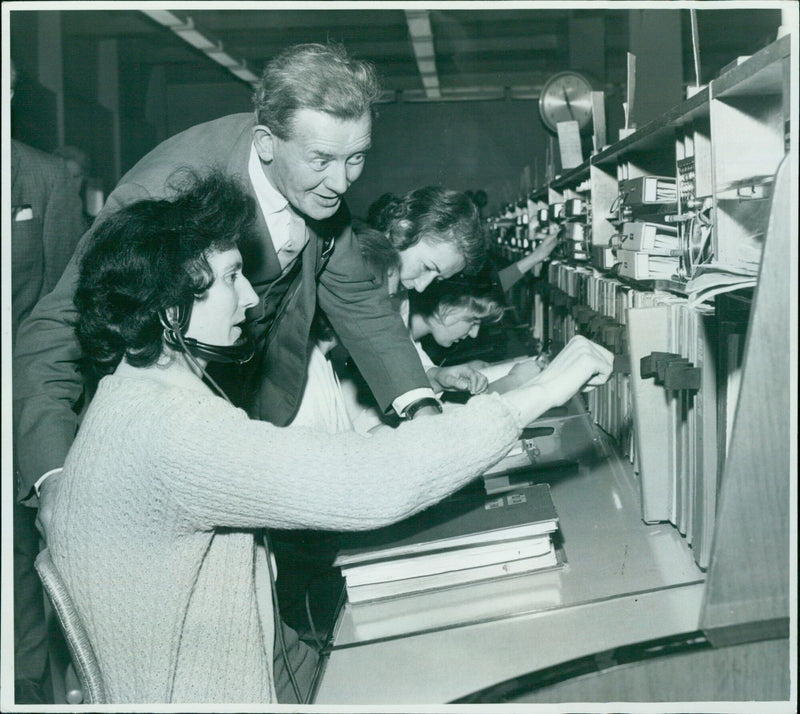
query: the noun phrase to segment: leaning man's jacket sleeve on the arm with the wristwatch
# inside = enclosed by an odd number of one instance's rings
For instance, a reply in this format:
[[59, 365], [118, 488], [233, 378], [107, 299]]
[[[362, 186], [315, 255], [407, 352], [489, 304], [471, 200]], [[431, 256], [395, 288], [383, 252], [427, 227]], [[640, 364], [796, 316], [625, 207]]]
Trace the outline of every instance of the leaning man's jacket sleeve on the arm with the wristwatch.
[[320, 275], [317, 301], [383, 411], [406, 392], [430, 389], [386, 286], [364, 264], [349, 227]]

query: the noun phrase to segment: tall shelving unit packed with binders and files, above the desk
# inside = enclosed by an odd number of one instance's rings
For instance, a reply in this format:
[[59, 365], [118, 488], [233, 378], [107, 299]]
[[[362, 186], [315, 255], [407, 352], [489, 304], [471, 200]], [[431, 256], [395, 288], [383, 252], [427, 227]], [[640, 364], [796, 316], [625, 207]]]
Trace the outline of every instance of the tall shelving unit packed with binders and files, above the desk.
[[[581, 333], [627, 353], [630, 373], [612, 377], [590, 409], [631, 455], [642, 519], [673, 523], [708, 571], [701, 625], [717, 644], [780, 639], [789, 631], [790, 415], [783, 385], [791, 346], [780, 316], [790, 310], [788, 216], [796, 199], [789, 191], [796, 182], [773, 196], [791, 148], [789, 60], [787, 36], [593, 155], [580, 175], [551, 182], [551, 194], [559, 195], [588, 170], [592, 264], [555, 260], [546, 281], [528, 285], [545, 304], [532, 316], [543, 325], [533, 330], [557, 346]], [[677, 217], [684, 247], [668, 279], [621, 277], [612, 257], [620, 247], [620, 184], [641, 176], [676, 180], [668, 213]], [[781, 223], [776, 215], [786, 222], [782, 232], [770, 226], [767, 250], [768, 221]], [[726, 282], [730, 292], [703, 292], [726, 290]], [[670, 388], [663, 374], [648, 381], [642, 358], [658, 353], [686, 363], [692, 386]], [[670, 360], [660, 359], [668, 371]], [[760, 418], [749, 399], [758, 399]], [[633, 416], [632, 444], [620, 429], [618, 417], [626, 414]]]

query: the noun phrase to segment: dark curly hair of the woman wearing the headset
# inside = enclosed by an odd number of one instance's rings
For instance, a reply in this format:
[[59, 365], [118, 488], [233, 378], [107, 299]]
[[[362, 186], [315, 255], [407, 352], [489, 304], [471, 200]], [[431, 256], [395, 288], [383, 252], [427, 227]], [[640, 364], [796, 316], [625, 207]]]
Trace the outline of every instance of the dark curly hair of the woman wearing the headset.
[[121, 208], [93, 229], [83, 254], [75, 331], [85, 368], [110, 374], [123, 356], [154, 364], [164, 348], [159, 312], [191, 305], [214, 281], [207, 255], [236, 247], [253, 225], [255, 203], [218, 172], [179, 174], [172, 197]]

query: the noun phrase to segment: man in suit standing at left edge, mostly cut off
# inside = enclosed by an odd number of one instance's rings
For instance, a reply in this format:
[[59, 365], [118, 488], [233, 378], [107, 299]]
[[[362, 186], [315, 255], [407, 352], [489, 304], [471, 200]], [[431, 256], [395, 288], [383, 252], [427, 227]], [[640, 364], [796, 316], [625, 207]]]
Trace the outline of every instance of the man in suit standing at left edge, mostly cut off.
[[[11, 63], [11, 96], [17, 72]], [[11, 344], [39, 298], [50, 292], [83, 233], [81, 202], [63, 160], [11, 140]], [[17, 364], [12, 363], [13, 377]], [[15, 494], [16, 495], [16, 494]], [[14, 503], [14, 679], [17, 704], [46, 702], [44, 599], [33, 562], [35, 513]]]

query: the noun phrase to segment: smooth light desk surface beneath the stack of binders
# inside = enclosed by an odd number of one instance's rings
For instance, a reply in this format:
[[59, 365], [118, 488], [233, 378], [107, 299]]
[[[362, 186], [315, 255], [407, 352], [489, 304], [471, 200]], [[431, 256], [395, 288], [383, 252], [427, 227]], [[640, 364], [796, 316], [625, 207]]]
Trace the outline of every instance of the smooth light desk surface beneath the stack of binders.
[[343, 609], [315, 702], [445, 703], [540, 667], [698, 626], [704, 575], [645, 525], [630, 464], [562, 470], [564, 568]]

